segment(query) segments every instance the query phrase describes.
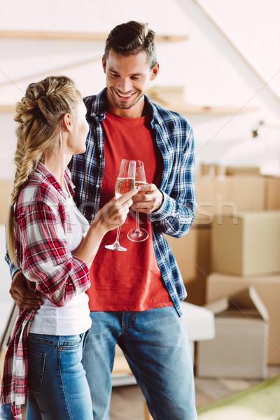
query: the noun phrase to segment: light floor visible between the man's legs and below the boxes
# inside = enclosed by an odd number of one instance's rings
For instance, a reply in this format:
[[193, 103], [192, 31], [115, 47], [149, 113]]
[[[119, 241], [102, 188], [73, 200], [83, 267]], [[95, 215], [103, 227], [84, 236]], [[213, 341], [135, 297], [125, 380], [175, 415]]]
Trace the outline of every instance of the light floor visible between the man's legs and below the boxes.
[[[274, 377], [277, 374], [280, 374], [280, 365], [269, 366], [268, 377]], [[258, 380], [195, 377], [197, 407], [246, 389], [258, 382]], [[144, 420], [143, 397], [137, 385], [113, 388], [110, 420]]]

